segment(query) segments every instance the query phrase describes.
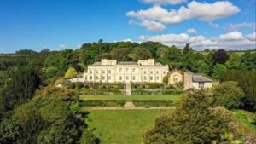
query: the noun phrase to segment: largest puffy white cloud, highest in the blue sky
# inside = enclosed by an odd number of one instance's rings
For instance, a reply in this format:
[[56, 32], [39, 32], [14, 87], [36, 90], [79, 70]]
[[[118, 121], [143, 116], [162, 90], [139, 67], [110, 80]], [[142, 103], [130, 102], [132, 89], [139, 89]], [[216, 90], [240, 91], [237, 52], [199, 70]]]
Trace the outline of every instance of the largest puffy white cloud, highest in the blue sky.
[[177, 10], [168, 10], [159, 5], [154, 5], [149, 9], [129, 11], [126, 15], [131, 18], [136, 18], [137, 20], [154, 20], [154, 22], [163, 25], [172, 25], [190, 19], [212, 21], [228, 17], [238, 12], [240, 12], [240, 9], [229, 1], [218, 1], [215, 3], [192, 1], [187, 7], [182, 6]]

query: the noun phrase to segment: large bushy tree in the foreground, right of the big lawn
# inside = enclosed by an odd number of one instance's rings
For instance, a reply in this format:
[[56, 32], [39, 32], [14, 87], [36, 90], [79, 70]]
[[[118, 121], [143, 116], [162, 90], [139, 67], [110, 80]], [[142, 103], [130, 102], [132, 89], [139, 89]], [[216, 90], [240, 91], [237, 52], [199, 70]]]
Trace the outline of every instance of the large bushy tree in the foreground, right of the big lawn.
[[154, 128], [143, 136], [144, 143], [218, 143], [228, 119], [214, 106], [213, 97], [205, 91], [189, 92], [171, 115], [157, 118]]

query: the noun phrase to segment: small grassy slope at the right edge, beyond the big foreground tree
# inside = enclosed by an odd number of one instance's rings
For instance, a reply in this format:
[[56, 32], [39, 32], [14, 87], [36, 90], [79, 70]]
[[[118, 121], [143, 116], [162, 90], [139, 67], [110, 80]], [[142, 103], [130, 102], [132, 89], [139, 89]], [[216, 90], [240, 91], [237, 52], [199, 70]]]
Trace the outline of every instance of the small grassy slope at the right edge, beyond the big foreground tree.
[[256, 126], [252, 124], [253, 117], [256, 117], [256, 113], [247, 112], [244, 110], [234, 110], [232, 111], [235, 118], [247, 127], [248, 130], [252, 130], [252, 132], [256, 133]]

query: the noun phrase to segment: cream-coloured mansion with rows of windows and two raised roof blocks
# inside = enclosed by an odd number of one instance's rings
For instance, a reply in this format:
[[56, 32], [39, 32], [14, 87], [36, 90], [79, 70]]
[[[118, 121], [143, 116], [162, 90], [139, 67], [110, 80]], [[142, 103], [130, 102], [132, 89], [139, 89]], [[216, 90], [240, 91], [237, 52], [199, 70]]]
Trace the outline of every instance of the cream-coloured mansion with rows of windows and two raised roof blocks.
[[162, 83], [168, 74], [167, 65], [154, 62], [154, 59], [138, 60], [137, 62], [121, 62], [102, 59], [88, 66], [84, 72], [84, 81], [93, 83]]

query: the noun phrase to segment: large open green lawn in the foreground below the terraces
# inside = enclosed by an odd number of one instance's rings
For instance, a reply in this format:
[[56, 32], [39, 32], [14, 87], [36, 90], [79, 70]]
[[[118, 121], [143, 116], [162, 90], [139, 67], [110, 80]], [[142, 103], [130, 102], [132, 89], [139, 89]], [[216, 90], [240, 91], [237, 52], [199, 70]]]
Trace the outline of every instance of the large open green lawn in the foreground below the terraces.
[[[167, 112], [172, 112], [168, 110]], [[160, 110], [97, 110], [90, 111], [86, 124], [101, 144], [141, 144], [143, 134], [154, 126]]]

